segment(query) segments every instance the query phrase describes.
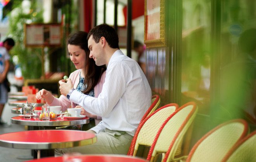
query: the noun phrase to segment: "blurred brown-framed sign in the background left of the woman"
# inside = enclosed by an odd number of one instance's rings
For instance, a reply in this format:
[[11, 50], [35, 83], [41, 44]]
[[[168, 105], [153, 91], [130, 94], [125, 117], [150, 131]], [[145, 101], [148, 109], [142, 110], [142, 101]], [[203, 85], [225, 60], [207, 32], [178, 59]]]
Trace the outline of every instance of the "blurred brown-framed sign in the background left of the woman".
[[25, 24], [26, 47], [61, 46], [61, 24]]

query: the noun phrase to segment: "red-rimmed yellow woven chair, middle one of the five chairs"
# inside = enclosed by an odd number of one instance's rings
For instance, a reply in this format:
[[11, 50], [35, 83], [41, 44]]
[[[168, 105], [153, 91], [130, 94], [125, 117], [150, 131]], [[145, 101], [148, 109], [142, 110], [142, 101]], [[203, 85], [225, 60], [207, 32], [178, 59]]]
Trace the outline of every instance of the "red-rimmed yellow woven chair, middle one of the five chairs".
[[178, 147], [182, 144], [183, 136], [195, 119], [197, 110], [196, 104], [189, 102], [171, 114], [158, 130], [156, 138], [150, 147], [147, 160], [152, 162], [156, 159], [157, 154], [166, 153], [167, 151], [169, 151], [168, 155], [173, 159]]

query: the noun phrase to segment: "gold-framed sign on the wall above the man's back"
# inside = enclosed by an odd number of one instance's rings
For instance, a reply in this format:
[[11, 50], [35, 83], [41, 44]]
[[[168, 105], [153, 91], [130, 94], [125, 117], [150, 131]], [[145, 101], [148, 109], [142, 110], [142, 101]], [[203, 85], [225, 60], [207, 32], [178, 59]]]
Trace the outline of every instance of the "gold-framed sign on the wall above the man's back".
[[145, 35], [147, 47], [165, 47], [165, 0], [145, 0]]

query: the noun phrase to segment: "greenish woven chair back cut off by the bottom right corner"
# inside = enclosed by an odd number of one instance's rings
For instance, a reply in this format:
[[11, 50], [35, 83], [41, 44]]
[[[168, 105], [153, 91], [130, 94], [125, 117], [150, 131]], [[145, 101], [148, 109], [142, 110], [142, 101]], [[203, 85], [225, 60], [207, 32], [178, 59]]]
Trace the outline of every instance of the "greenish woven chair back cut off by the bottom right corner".
[[221, 162], [256, 162], [256, 131], [235, 145]]

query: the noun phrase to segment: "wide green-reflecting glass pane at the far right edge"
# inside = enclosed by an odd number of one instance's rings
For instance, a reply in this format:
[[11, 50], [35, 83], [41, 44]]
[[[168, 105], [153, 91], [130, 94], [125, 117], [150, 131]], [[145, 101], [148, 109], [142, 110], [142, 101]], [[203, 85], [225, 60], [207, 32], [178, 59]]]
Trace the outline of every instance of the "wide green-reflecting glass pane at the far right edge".
[[[256, 121], [256, 1], [221, 3], [221, 119]], [[249, 29], [249, 30], [248, 30]]]

